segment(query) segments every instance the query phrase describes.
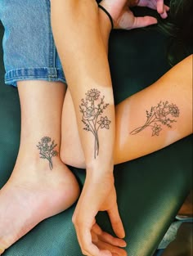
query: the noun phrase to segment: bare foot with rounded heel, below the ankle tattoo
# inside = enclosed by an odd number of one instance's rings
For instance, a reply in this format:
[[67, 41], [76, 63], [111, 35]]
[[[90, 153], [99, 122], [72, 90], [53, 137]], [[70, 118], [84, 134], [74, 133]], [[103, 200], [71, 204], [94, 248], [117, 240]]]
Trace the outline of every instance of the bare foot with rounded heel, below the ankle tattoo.
[[43, 165], [15, 168], [0, 190], [0, 254], [43, 219], [69, 208], [78, 196], [78, 182], [59, 159], [52, 171]]

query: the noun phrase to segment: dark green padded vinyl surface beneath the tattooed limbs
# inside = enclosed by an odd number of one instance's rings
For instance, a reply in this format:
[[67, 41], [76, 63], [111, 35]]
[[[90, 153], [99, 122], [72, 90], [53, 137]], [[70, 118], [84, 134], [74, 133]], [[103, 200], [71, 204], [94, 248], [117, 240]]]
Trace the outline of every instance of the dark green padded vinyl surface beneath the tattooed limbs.
[[[2, 34], [0, 25], [0, 42]], [[111, 34], [110, 68], [116, 103], [146, 88], [169, 69], [167, 43], [168, 38], [155, 29], [114, 31]], [[4, 84], [3, 75], [0, 45], [0, 188], [11, 175], [20, 142], [18, 93], [16, 88]], [[191, 155], [191, 137], [186, 137], [154, 154], [114, 167], [128, 256], [152, 256], [155, 253], [190, 190]], [[83, 186], [85, 171], [71, 170]], [[75, 205], [41, 222], [3, 256], [82, 255], [71, 222], [74, 208]], [[97, 219], [101, 227], [111, 232], [105, 213], [100, 213]]]

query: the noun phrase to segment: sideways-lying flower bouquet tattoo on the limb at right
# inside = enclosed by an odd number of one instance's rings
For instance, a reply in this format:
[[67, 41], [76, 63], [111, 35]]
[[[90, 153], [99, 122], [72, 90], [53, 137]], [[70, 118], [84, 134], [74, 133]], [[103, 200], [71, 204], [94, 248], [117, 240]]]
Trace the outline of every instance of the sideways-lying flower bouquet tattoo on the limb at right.
[[146, 123], [141, 127], [134, 129], [130, 134], [137, 134], [149, 127], [152, 130], [151, 136], [159, 136], [159, 132], [162, 130], [161, 124], [168, 126], [168, 128], [172, 128], [171, 124], [177, 122], [177, 120], [171, 119], [171, 116], [177, 118], [179, 115], [180, 110], [176, 105], [173, 103], [169, 105], [168, 101], [160, 101], [157, 106], [152, 106], [150, 111], [146, 110]]

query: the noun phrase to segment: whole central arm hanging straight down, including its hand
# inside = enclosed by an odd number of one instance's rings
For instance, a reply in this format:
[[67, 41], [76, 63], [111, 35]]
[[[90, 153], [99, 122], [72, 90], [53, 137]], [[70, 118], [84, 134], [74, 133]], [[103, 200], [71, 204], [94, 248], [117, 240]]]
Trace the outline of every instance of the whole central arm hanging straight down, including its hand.
[[[105, 26], [108, 27], [109, 31], [104, 33], [105, 42], [108, 42], [110, 23]], [[102, 256], [106, 255], [104, 247], [92, 243], [91, 230], [98, 211], [108, 212], [117, 236], [123, 237], [124, 230], [113, 176], [114, 97], [107, 43], [102, 38], [96, 2], [53, 0], [52, 30], [73, 99], [87, 169], [83, 191], [74, 212], [74, 227], [83, 254]], [[125, 242], [115, 240], [114, 245], [125, 246]], [[125, 254], [123, 249], [119, 250]]]

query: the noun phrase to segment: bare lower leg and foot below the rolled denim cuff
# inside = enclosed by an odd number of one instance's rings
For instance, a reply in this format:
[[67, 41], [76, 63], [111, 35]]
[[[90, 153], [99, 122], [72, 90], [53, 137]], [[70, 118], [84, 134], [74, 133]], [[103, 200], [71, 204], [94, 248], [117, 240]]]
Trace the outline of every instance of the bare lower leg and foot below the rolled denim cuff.
[[0, 191], [0, 254], [38, 222], [69, 208], [79, 196], [78, 182], [59, 157], [65, 85], [22, 81], [18, 89], [20, 150], [13, 173]]

